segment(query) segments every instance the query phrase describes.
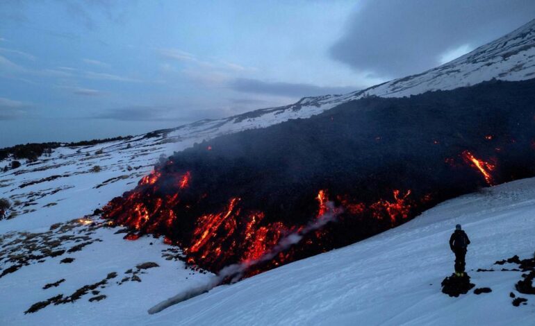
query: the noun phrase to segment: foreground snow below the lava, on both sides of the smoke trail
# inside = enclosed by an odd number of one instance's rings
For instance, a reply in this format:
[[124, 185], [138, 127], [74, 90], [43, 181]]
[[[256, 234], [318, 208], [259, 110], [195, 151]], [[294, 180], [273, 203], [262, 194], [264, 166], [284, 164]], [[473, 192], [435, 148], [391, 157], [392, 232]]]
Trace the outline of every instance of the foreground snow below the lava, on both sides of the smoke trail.
[[[535, 178], [485, 189], [434, 207], [399, 228], [219, 286], [156, 315], [147, 314], [147, 309], [180, 291], [210, 282], [212, 276], [161, 257], [166, 248], [160, 240], [129, 242], [122, 240], [122, 234], [113, 234], [115, 229], [65, 224], [67, 227], [30, 238], [40, 243], [47, 235], [89, 234], [100, 241], [70, 253], [69, 257], [75, 258], [70, 264], [60, 264], [65, 255], [47, 257], [1, 277], [0, 291], [9, 293], [9, 300], [0, 305], [0, 324], [533, 325], [534, 296], [519, 295], [514, 289], [522, 273], [501, 271], [516, 265], [496, 266], [494, 262], [513, 255], [532, 257], [534, 198]], [[472, 283], [490, 287], [491, 293], [470, 291], [459, 298], [441, 293], [441, 280], [453, 270], [454, 257], [447, 241], [456, 223], [463, 225], [472, 241], [467, 256]], [[29, 241], [27, 236], [22, 239]], [[19, 234], [7, 237], [3, 236], [3, 250], [28, 244], [13, 243]], [[61, 246], [72, 248], [65, 242]], [[135, 267], [147, 261], [159, 267]], [[477, 268], [496, 271], [477, 272]], [[117, 276], [97, 286], [100, 293], [23, 314], [35, 302], [58, 294], [72, 297], [76, 289], [106, 280], [114, 272]], [[133, 273], [140, 281], [132, 280]], [[121, 282], [124, 277], [129, 280]], [[57, 287], [42, 289], [63, 278], [65, 282]], [[513, 307], [511, 292], [527, 298], [527, 305]], [[88, 301], [98, 295], [107, 298]]]

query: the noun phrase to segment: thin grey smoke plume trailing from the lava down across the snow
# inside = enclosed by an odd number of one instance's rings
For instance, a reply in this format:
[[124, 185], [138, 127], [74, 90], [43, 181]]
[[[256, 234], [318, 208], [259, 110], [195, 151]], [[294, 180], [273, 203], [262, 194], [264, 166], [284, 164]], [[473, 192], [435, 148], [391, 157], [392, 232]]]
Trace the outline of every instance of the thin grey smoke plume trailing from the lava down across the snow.
[[202, 284], [201, 286], [197, 286], [193, 289], [187, 289], [186, 291], [183, 291], [172, 298], [169, 298], [156, 304], [154, 307], [151, 307], [151, 309], [149, 309], [149, 314], [156, 314], [162, 311], [163, 309], [171, 307], [174, 304], [178, 304], [180, 302], [194, 298], [197, 295], [206, 293], [211, 289], [215, 288], [215, 286], [219, 286], [220, 284], [222, 284], [225, 280], [230, 280], [231, 283], [238, 282], [242, 279], [243, 275], [245, 274], [245, 272], [247, 272], [249, 268], [255, 266], [256, 264], [260, 264], [263, 261], [269, 261], [273, 259], [279, 254], [279, 252], [283, 252], [284, 250], [290, 248], [290, 246], [299, 243], [299, 241], [301, 241], [306, 234], [322, 228], [324, 225], [331, 221], [336, 221], [336, 218], [342, 212], [342, 207], [335, 207], [333, 202], [327, 202], [327, 212], [325, 212], [321, 216], [318, 216], [318, 218], [315, 218], [315, 220], [309, 222], [301, 230], [287, 234], [286, 237], [283, 237], [283, 239], [281, 239], [281, 241], [277, 243], [277, 246], [274, 246], [274, 248], [270, 252], [265, 253], [262, 257], [255, 260], [242, 261], [238, 264], [232, 264], [222, 268], [221, 271], [219, 271], [217, 275], [212, 277], [211, 280], [206, 282], [206, 284]]

